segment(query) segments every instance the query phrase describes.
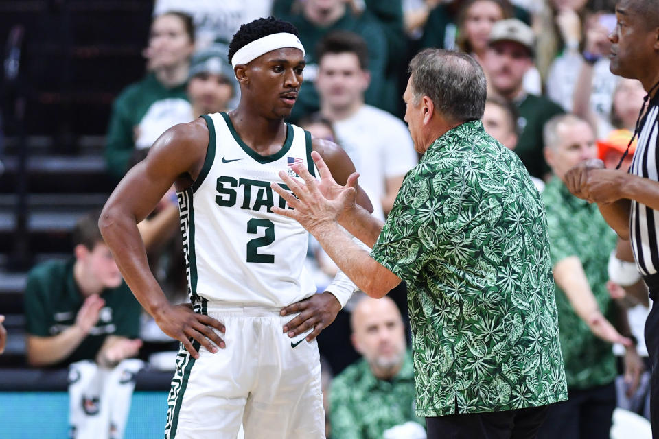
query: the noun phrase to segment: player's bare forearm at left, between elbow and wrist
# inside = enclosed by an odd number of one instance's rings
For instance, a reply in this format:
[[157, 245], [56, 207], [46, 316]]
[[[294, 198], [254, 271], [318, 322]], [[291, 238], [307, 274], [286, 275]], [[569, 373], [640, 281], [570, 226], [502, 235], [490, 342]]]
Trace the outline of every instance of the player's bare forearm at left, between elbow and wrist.
[[135, 217], [108, 203], [98, 226], [132, 294], [151, 316], [156, 316], [169, 302], [149, 268]]

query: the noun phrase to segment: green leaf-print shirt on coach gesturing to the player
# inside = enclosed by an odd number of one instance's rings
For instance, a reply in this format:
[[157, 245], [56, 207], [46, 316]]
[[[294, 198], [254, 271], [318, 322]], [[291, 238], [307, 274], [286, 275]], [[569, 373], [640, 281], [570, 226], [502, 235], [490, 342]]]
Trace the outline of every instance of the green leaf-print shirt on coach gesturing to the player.
[[418, 416], [567, 399], [544, 206], [481, 121], [430, 145], [371, 256], [407, 282]]

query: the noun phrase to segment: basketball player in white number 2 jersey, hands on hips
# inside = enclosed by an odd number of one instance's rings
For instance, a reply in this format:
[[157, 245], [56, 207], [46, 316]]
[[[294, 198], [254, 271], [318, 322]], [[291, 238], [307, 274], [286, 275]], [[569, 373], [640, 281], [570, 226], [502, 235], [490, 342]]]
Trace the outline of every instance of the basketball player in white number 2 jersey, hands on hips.
[[[308, 235], [272, 213], [286, 202], [270, 183], [283, 184], [280, 170], [294, 176], [294, 163], [315, 171], [312, 150], [342, 183], [356, 185], [354, 165], [334, 143], [284, 122], [303, 79], [294, 26], [273, 18], [242, 25], [229, 60], [238, 108], [167, 130], [119, 183], [100, 228], [135, 297], [181, 341], [166, 438], [233, 439], [241, 423], [247, 439], [324, 438], [314, 337], [355, 287], [340, 274], [314, 294], [303, 270]], [[173, 183], [194, 311], [167, 302], [136, 226]], [[360, 189], [358, 200], [372, 210]]]

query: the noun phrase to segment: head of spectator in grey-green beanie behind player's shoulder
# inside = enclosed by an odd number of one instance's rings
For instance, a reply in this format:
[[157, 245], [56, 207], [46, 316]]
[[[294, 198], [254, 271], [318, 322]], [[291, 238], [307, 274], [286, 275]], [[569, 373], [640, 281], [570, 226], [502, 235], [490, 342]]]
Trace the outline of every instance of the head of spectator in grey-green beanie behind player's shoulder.
[[[187, 97], [192, 104], [193, 117], [229, 110], [238, 92], [238, 82], [231, 64], [227, 63], [228, 47], [213, 45], [196, 52], [190, 60]], [[233, 106], [231, 106], [233, 107]]]

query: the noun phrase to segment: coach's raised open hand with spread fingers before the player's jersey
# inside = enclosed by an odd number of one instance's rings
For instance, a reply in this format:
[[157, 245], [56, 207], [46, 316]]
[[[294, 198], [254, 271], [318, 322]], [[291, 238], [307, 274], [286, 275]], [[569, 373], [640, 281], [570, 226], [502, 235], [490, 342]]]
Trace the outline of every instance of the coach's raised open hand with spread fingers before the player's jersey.
[[[285, 191], [277, 183], [272, 183], [271, 187], [281, 195], [288, 206], [293, 209], [281, 209], [277, 206], [273, 207], [273, 212], [290, 217], [299, 222], [306, 230], [312, 234], [323, 224], [334, 222], [345, 213], [347, 209], [351, 209], [355, 205], [356, 189], [353, 186], [343, 186], [340, 189], [335, 188], [333, 191], [332, 200], [321, 193], [319, 189], [319, 182], [309, 174], [309, 171], [301, 166], [294, 165], [293, 171], [302, 177], [303, 184], [299, 180], [291, 178], [286, 172], [280, 171], [279, 177], [284, 180], [290, 190], [297, 196], [291, 195]], [[349, 181], [353, 184], [356, 182], [356, 174], [353, 174]], [[331, 174], [329, 174], [331, 178]], [[329, 180], [327, 180], [329, 181]], [[331, 184], [329, 182], [328, 184]], [[336, 183], [334, 183], [336, 185]]]

